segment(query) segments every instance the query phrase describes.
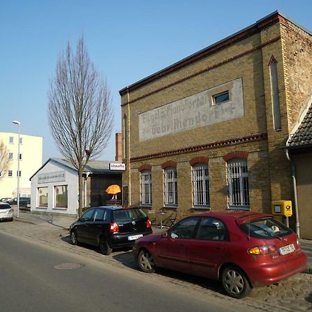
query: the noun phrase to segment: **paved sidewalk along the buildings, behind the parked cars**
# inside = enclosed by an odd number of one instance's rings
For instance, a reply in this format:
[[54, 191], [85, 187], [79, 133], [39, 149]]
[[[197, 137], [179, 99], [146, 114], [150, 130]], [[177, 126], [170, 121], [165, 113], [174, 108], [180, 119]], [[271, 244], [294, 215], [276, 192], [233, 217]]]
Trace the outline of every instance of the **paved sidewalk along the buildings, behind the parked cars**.
[[[19, 211], [19, 218], [15, 218], [15, 220], [41, 225], [46, 223], [46, 225], [59, 227], [66, 231], [76, 218], [73, 216], [62, 216], [60, 214], [33, 214], [30, 213], [30, 211]], [[160, 229], [157, 226], [153, 226], [154, 233], [163, 232], [165, 230], [166, 228]], [[308, 257], [308, 268], [304, 272], [312, 274], [312, 241], [301, 239], [300, 245]]]

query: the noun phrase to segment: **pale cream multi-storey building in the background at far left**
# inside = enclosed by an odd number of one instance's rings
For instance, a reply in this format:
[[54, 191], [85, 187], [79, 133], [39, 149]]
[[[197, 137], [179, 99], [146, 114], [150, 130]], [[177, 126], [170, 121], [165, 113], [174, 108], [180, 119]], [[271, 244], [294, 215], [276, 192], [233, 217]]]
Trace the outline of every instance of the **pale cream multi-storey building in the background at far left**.
[[[0, 142], [6, 145], [8, 168], [0, 175], [0, 198], [17, 196], [17, 167], [19, 159], [19, 195], [31, 197], [29, 178], [42, 166], [42, 137], [19, 135], [12, 132], [0, 132]], [[19, 155], [18, 155], [19, 145]]]

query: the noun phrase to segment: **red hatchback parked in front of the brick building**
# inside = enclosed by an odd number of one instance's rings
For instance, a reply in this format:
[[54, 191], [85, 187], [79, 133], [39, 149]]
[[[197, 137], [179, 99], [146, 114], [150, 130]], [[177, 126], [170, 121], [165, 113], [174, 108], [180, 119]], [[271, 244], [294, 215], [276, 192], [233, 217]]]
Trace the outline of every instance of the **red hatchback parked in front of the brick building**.
[[306, 268], [297, 235], [270, 214], [213, 211], [138, 239], [133, 255], [144, 272], [157, 267], [218, 279], [225, 293], [245, 297]]

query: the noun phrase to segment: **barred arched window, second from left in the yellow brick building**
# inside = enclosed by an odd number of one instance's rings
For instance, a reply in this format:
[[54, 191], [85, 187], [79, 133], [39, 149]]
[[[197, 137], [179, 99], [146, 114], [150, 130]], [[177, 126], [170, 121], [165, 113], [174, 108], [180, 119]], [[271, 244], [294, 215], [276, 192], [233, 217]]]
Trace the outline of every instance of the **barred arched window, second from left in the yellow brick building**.
[[177, 206], [177, 168], [164, 169], [164, 205]]

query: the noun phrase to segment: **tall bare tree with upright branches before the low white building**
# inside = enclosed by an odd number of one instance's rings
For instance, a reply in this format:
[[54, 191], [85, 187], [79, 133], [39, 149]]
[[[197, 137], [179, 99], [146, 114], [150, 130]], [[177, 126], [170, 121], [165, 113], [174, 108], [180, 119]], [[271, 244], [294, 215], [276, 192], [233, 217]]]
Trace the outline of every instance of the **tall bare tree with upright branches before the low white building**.
[[78, 171], [79, 216], [83, 212], [83, 171], [103, 153], [112, 133], [112, 101], [106, 80], [89, 58], [83, 37], [76, 53], [68, 43], [49, 89], [49, 125], [60, 153]]

